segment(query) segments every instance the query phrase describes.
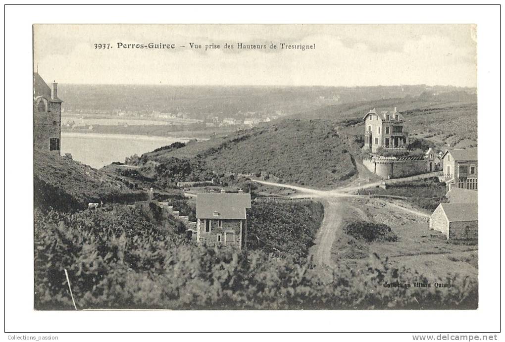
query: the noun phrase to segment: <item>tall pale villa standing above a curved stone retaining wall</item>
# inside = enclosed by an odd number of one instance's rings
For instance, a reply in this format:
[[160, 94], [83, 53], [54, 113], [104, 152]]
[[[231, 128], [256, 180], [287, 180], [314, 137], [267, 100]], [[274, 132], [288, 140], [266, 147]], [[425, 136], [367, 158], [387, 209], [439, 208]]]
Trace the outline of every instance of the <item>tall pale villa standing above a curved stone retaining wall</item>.
[[375, 108], [364, 117], [365, 145], [363, 149], [377, 152], [377, 149], [405, 149], [409, 135], [403, 130], [403, 116], [396, 111], [380, 111]]

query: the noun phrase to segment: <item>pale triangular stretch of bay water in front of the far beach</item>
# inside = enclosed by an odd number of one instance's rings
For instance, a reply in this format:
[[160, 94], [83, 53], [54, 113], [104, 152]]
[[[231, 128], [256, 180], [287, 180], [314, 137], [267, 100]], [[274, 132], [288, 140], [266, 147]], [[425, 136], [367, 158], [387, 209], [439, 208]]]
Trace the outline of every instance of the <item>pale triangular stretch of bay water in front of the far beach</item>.
[[124, 163], [126, 157], [153, 151], [186, 138], [148, 135], [62, 133], [61, 153], [71, 153], [74, 160], [94, 168], [112, 162]]

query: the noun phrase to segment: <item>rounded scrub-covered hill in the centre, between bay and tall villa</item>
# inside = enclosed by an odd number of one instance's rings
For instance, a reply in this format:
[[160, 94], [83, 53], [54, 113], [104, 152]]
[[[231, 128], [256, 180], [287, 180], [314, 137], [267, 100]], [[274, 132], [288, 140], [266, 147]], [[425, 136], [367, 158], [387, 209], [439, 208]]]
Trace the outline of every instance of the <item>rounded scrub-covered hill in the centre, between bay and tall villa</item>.
[[348, 150], [330, 121], [282, 120], [182, 147], [166, 146], [133, 164], [159, 186], [246, 174], [331, 188], [357, 172]]

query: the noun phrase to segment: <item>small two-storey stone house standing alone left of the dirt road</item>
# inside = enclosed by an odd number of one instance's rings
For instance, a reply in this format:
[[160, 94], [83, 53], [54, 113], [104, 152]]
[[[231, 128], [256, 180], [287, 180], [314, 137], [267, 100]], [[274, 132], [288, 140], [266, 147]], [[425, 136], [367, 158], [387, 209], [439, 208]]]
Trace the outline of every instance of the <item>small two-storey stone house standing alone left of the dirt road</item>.
[[198, 193], [196, 242], [208, 246], [245, 248], [249, 193]]

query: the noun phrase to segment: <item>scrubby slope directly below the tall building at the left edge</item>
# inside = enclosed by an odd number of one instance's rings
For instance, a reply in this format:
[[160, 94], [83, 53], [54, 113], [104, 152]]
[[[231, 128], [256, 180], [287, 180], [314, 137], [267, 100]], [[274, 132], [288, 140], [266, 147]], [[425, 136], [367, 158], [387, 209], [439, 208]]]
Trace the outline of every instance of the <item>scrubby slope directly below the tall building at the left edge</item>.
[[84, 209], [90, 202], [133, 202], [144, 200], [145, 191], [119, 177], [54, 153], [33, 152], [35, 207], [61, 211]]

